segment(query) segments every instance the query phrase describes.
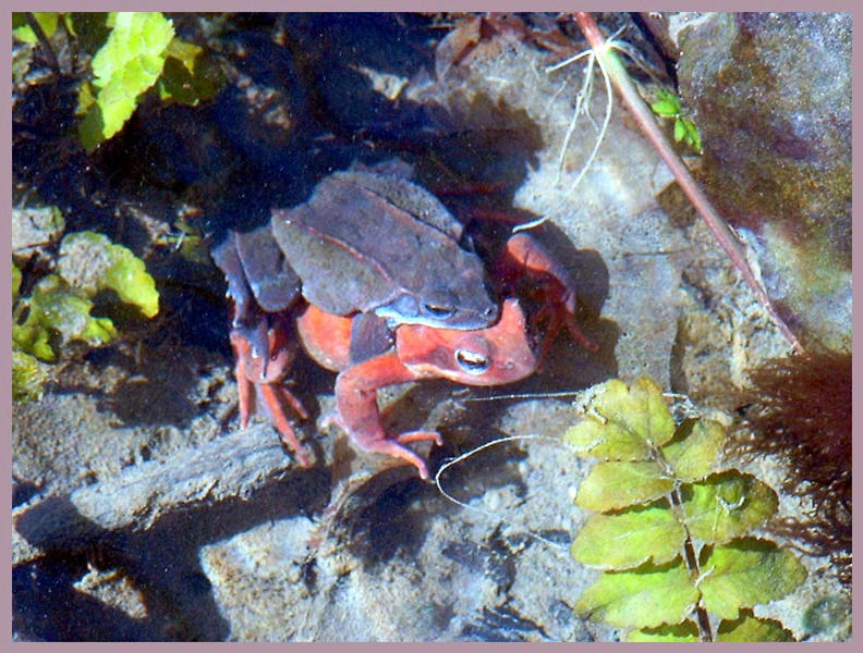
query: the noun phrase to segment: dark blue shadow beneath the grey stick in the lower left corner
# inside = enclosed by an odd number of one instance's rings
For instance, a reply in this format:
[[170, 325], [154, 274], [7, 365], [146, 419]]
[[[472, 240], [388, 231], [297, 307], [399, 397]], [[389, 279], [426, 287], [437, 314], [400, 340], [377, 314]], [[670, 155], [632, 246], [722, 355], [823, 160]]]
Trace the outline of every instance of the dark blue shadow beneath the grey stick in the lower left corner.
[[[106, 530], [68, 497], [48, 498], [15, 521], [47, 553], [13, 568], [13, 629], [36, 641], [223, 641], [229, 624], [200, 567], [200, 549], [260, 523], [319, 512], [328, 495], [329, 476], [303, 470], [244, 500], [175, 509], [143, 532]], [[51, 527], [58, 521], [64, 525], [61, 547]], [[119, 569], [146, 616], [132, 617], [78, 591], [88, 568]]]

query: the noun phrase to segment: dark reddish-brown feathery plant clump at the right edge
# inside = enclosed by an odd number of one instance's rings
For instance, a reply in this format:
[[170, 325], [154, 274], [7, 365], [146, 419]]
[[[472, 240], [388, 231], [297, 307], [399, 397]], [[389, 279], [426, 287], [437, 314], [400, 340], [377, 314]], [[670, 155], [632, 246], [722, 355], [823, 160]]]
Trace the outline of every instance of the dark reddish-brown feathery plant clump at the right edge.
[[728, 453], [775, 456], [786, 466], [782, 490], [806, 496], [803, 518], [771, 526], [814, 555], [832, 558], [851, 584], [851, 355], [813, 349], [768, 360], [750, 372], [740, 393], [743, 419]]

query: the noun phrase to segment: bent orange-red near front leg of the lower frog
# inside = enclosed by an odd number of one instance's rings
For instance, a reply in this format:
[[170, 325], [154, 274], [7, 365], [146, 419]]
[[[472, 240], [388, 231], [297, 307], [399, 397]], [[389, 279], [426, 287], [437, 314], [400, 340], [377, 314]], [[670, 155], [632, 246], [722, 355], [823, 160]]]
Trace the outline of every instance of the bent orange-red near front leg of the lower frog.
[[390, 436], [380, 423], [377, 405], [379, 387], [405, 383], [424, 378], [408, 369], [394, 350], [387, 352], [342, 371], [336, 379], [336, 403], [339, 424], [360, 447], [368, 452], [387, 454], [406, 460], [420, 471], [422, 479], [428, 478], [425, 461], [403, 446], [409, 442], [433, 440], [442, 444], [436, 431], [411, 431]]

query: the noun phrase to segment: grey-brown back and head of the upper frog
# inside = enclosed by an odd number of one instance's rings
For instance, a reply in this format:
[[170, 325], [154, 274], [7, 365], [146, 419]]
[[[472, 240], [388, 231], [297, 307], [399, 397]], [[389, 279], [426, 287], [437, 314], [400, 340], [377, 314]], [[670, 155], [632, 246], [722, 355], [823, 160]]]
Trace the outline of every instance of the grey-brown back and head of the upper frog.
[[327, 312], [450, 329], [497, 317], [482, 261], [460, 246], [462, 225], [399, 175], [330, 175], [306, 204], [274, 210], [271, 229], [303, 295]]

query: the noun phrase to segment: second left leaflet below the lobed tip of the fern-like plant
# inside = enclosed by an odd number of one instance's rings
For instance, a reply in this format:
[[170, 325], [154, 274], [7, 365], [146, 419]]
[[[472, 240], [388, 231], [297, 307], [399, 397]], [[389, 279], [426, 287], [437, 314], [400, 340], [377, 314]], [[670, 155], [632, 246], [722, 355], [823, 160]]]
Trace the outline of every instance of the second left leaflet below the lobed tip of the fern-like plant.
[[659, 565], [680, 554], [686, 531], [666, 502], [615, 515], [592, 515], [572, 543], [572, 557], [604, 569]]

